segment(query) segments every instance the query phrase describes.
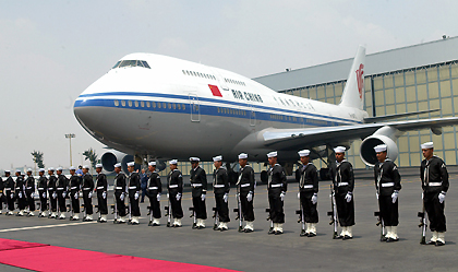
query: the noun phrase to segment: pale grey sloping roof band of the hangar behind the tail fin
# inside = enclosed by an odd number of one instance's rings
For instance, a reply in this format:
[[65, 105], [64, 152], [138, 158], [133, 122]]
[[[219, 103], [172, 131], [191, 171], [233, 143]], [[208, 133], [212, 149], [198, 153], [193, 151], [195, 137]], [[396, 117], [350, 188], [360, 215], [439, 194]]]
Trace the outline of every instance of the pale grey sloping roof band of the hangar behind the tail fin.
[[[458, 37], [367, 55], [365, 75], [448, 62], [458, 59]], [[347, 80], [353, 58], [253, 79], [274, 91], [286, 91]]]

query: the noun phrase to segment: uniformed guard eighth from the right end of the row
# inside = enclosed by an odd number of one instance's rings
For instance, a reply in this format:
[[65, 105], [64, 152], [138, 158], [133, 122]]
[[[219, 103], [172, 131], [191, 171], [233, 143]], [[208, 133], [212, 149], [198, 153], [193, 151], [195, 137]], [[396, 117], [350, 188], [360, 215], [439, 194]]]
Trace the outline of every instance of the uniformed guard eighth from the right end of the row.
[[191, 162], [191, 188], [192, 204], [194, 206], [194, 216], [197, 220], [196, 228], [205, 228], [205, 220], [207, 218], [207, 209], [205, 205], [205, 197], [207, 193], [207, 174], [198, 166], [198, 157], [190, 157]]

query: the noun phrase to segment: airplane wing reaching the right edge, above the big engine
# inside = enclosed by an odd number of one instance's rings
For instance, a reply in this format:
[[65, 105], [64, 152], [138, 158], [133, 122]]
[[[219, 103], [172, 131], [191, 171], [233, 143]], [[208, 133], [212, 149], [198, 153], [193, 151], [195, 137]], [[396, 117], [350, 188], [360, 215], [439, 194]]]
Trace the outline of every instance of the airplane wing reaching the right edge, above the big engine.
[[401, 132], [419, 129], [431, 129], [441, 134], [443, 127], [458, 125], [458, 117], [420, 119], [408, 121], [391, 121], [378, 123], [362, 123], [340, 127], [298, 128], [298, 129], [265, 129], [261, 131], [264, 144], [270, 149], [298, 150], [306, 146], [325, 144], [337, 145], [346, 141], [364, 139], [383, 127], [390, 127]]

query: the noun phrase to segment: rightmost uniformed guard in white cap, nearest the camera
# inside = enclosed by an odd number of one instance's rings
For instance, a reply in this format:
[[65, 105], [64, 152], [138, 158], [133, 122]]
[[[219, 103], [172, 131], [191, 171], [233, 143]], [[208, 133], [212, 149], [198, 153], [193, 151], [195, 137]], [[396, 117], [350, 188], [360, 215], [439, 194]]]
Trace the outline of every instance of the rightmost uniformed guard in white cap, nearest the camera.
[[448, 191], [448, 172], [444, 161], [433, 154], [433, 142], [423, 143], [421, 150], [424, 156], [420, 166], [423, 204], [430, 218], [430, 229], [433, 232], [429, 245], [444, 246], [447, 230], [444, 202]]

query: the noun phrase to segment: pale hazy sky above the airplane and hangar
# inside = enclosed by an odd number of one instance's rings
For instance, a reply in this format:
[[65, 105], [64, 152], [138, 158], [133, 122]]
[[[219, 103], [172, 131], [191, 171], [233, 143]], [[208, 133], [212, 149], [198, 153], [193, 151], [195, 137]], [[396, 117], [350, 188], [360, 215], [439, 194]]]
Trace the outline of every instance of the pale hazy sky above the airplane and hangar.
[[76, 97], [131, 52], [256, 78], [458, 36], [458, 1], [0, 0], [0, 169], [83, 162], [104, 145], [76, 121]]

